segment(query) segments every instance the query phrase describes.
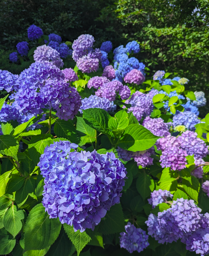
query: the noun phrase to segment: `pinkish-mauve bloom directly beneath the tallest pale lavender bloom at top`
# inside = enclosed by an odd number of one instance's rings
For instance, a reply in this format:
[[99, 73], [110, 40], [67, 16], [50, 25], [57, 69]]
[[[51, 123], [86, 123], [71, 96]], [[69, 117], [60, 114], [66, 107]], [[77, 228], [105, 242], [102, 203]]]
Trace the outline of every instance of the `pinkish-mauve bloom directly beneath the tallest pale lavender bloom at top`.
[[99, 59], [92, 59], [84, 55], [77, 60], [76, 65], [83, 73], [96, 72], [99, 68]]

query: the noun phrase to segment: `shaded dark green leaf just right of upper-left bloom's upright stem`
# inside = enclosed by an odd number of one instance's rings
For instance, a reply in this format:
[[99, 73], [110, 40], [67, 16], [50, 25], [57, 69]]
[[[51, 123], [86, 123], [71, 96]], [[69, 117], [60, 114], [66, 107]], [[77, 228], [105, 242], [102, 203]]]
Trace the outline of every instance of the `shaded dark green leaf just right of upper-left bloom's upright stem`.
[[56, 119], [54, 133], [57, 137], [68, 139], [73, 143], [77, 141], [75, 126], [72, 124], [71, 120], [64, 121]]

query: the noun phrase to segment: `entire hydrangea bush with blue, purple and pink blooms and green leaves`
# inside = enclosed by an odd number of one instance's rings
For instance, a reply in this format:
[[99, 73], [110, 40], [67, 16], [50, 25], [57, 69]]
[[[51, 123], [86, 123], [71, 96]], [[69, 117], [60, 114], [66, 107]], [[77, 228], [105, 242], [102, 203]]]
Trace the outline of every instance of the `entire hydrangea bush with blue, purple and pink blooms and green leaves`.
[[148, 77], [136, 41], [28, 39], [31, 66], [0, 70], [0, 254], [209, 254], [204, 93]]

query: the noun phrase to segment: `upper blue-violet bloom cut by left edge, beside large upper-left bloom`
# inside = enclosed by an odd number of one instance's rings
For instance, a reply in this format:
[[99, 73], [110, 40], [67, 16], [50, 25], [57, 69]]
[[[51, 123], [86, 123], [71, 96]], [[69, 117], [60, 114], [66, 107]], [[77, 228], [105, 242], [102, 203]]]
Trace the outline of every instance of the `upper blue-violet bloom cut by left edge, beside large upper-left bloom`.
[[6, 90], [7, 92], [16, 91], [16, 80], [18, 79], [18, 75], [13, 75], [11, 72], [7, 70], [0, 69], [0, 91]]

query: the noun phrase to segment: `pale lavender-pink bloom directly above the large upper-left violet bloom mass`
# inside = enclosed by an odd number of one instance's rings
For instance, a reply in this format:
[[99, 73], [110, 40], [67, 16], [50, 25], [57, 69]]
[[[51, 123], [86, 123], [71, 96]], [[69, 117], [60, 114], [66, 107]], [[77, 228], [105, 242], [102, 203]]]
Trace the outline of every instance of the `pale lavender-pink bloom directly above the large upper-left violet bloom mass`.
[[33, 58], [35, 61], [51, 61], [57, 68], [63, 67], [64, 63], [60, 59], [60, 54], [57, 50], [53, 49], [46, 44], [38, 46], [34, 51]]

